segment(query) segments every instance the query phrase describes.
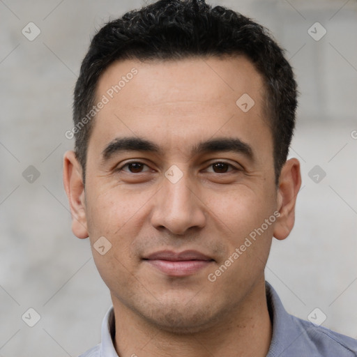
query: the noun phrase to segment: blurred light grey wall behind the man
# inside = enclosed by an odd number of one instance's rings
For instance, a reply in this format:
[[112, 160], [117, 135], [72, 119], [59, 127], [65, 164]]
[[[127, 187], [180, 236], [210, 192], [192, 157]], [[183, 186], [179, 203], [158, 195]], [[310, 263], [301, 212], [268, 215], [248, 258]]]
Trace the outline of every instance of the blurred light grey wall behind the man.
[[[357, 3], [208, 2], [271, 29], [300, 85], [291, 157], [301, 161], [303, 189], [294, 230], [273, 243], [266, 278], [291, 314], [307, 319], [319, 307], [327, 317], [323, 326], [357, 338]], [[100, 341], [111, 301], [89, 241], [70, 229], [62, 158], [73, 140], [64, 133], [72, 128], [73, 88], [91, 37], [107, 20], [143, 4], [0, 0], [2, 357], [77, 356]], [[29, 22], [40, 29], [33, 41], [22, 34]], [[320, 40], [308, 33], [315, 22], [327, 31]], [[323, 29], [311, 31], [316, 37]], [[32, 183], [23, 176], [30, 165], [40, 174]], [[319, 182], [311, 172], [316, 165]], [[30, 307], [40, 314], [33, 327], [22, 319]]]

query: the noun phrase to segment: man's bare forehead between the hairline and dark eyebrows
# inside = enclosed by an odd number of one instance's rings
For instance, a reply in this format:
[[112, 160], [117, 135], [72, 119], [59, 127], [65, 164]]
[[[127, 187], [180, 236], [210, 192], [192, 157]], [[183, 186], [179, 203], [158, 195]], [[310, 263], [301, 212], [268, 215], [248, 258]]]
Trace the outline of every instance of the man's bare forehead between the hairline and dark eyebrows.
[[256, 139], [271, 140], [264, 94], [262, 77], [245, 56], [116, 61], [98, 81], [96, 102], [106, 103], [92, 136], [102, 145], [121, 134], [176, 140], [181, 149], [218, 132], [249, 137], [254, 130]]

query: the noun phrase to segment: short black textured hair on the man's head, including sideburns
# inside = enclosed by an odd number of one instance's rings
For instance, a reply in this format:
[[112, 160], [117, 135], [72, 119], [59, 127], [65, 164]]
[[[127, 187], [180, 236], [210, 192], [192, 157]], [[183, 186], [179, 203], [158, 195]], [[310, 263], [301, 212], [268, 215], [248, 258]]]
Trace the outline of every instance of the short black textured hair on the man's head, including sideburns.
[[[91, 111], [98, 79], [114, 61], [239, 54], [252, 61], [264, 79], [278, 183], [295, 127], [297, 90], [293, 70], [284, 58], [284, 50], [264, 26], [223, 6], [213, 8], [204, 0], [159, 0], [105, 24], [93, 37], [82, 62], [74, 93], [75, 126]], [[88, 121], [75, 132], [75, 153], [83, 180], [92, 128], [93, 121]]]

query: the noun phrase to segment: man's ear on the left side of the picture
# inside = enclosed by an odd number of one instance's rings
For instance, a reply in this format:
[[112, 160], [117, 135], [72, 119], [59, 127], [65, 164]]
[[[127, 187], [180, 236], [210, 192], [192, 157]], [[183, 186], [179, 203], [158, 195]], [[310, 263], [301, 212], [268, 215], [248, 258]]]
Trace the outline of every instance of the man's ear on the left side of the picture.
[[87, 238], [82, 167], [75, 157], [74, 151], [67, 151], [63, 157], [63, 185], [70, 203], [73, 234], [78, 238]]

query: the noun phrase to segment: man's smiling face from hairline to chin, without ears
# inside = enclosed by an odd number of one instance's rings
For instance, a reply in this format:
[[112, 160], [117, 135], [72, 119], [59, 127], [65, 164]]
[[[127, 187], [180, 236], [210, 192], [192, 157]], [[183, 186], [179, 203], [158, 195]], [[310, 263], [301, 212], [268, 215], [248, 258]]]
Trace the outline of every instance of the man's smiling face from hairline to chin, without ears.
[[[110, 91], [132, 68], [137, 74]], [[114, 307], [171, 331], [223, 321], [264, 282], [275, 224], [263, 224], [278, 208], [261, 75], [243, 56], [119, 61], [100, 77], [97, 100], [103, 95], [109, 102], [87, 151], [84, 225]], [[160, 151], [120, 150], [124, 137]], [[236, 150], [195, 151], [218, 139], [236, 140]], [[112, 244], [105, 255], [93, 248], [101, 236]]]

